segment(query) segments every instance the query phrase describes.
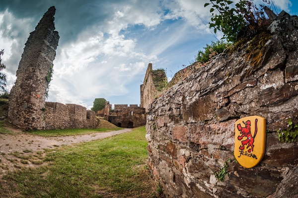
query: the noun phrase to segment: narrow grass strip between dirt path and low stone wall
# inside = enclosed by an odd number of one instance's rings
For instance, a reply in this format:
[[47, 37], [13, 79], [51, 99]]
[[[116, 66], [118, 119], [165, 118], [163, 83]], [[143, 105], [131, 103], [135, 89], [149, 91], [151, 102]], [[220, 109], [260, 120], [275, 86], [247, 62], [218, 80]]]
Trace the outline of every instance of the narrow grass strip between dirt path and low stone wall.
[[117, 131], [123, 128], [93, 128], [93, 129], [85, 129], [85, 128], [72, 128], [72, 129], [55, 129], [55, 130], [34, 130], [29, 131], [30, 134], [35, 134], [43, 137], [56, 137], [56, 136], [70, 136], [70, 135], [85, 135], [96, 132], [108, 132], [108, 131]]

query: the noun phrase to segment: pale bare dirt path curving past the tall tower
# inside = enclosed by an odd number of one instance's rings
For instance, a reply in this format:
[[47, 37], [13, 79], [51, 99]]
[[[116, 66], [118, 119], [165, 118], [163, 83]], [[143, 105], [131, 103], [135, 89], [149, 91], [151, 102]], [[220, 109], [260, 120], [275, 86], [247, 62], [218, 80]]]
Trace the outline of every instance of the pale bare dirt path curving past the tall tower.
[[[41, 137], [24, 133], [20, 129], [10, 127], [9, 129], [14, 132], [13, 135], [0, 134], [0, 173], [5, 173], [7, 171], [11, 171], [24, 166], [37, 166], [36, 160], [42, 159], [45, 156], [45, 149], [53, 149], [62, 145], [70, 145], [80, 142], [103, 139], [131, 131], [131, 129], [126, 128], [118, 131], [97, 132], [87, 135]], [[28, 151], [28, 153], [24, 151]], [[33, 159], [31, 161], [30, 159], [26, 160], [28, 164], [21, 163], [21, 159], [25, 159], [22, 156], [25, 155], [31, 156], [30, 158]]]

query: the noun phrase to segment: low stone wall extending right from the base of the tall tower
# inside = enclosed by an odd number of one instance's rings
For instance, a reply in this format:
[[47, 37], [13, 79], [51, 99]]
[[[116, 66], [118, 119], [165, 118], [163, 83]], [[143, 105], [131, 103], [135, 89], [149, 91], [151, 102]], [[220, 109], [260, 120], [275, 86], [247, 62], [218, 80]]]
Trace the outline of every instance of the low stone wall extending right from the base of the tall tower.
[[78, 104], [45, 103], [45, 129], [96, 128], [95, 112]]

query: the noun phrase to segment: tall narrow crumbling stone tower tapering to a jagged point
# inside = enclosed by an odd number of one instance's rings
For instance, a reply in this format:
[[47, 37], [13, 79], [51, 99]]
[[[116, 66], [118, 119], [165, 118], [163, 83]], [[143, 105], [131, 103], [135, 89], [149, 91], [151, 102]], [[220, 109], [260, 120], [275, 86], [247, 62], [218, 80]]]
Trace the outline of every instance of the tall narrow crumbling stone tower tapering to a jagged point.
[[54, 31], [55, 11], [54, 6], [50, 7], [30, 33], [10, 91], [8, 121], [25, 130], [45, 128], [46, 77], [59, 41]]

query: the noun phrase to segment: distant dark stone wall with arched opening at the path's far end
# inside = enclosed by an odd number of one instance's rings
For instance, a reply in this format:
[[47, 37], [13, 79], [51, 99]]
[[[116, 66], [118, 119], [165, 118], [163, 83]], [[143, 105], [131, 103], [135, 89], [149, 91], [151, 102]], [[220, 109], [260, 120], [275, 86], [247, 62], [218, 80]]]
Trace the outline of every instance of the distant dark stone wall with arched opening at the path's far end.
[[138, 104], [115, 104], [108, 121], [119, 127], [134, 128], [146, 124], [145, 108]]

